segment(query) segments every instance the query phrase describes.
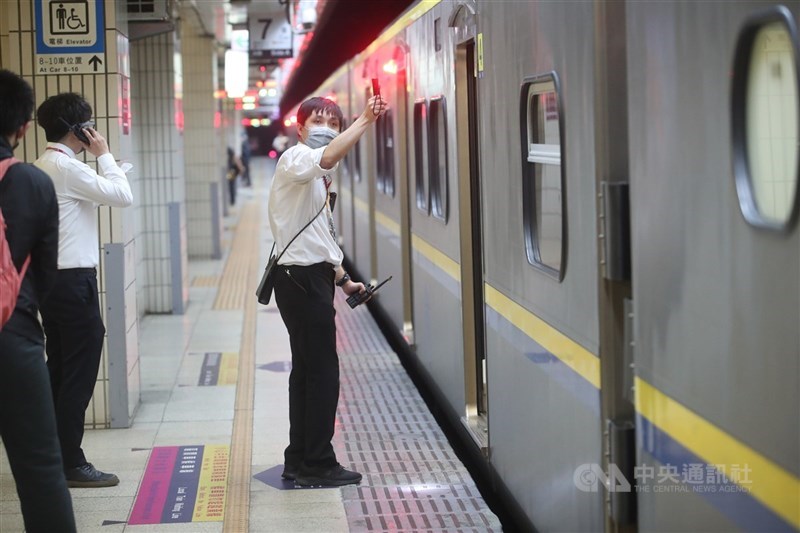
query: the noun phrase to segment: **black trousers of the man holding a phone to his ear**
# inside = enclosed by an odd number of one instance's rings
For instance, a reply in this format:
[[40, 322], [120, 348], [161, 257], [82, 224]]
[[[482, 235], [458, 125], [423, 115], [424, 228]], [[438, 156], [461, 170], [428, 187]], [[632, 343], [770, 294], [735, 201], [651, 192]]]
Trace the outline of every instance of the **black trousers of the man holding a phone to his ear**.
[[59, 270], [58, 283], [42, 305], [41, 314], [61, 454], [64, 468], [74, 468], [86, 463], [81, 449], [83, 425], [106, 333], [96, 270]]

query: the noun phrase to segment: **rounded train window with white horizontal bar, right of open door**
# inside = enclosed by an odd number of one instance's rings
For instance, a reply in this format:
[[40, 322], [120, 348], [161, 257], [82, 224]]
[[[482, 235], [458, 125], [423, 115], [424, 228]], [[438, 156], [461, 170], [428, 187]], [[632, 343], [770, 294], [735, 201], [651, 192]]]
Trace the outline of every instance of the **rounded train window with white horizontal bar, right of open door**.
[[563, 279], [564, 166], [558, 76], [527, 78], [521, 90], [525, 248], [536, 268]]

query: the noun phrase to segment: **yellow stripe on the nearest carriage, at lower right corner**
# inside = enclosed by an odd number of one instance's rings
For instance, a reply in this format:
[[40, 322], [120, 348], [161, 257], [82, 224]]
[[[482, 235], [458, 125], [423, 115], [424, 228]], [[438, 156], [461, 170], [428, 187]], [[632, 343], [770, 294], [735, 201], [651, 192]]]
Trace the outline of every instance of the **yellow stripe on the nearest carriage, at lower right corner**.
[[[739, 485], [800, 529], [800, 479], [703, 419], [641, 378], [636, 410], [675, 441], [711, 465], [746, 465], [750, 483]], [[736, 482], [735, 478], [730, 479]]]

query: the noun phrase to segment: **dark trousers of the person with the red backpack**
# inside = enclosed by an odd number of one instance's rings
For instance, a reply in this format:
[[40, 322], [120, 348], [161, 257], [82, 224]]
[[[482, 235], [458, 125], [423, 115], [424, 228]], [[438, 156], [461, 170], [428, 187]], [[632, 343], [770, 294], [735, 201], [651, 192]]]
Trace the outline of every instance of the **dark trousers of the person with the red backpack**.
[[0, 437], [17, 484], [25, 529], [75, 531], [44, 346], [8, 331], [0, 332]]

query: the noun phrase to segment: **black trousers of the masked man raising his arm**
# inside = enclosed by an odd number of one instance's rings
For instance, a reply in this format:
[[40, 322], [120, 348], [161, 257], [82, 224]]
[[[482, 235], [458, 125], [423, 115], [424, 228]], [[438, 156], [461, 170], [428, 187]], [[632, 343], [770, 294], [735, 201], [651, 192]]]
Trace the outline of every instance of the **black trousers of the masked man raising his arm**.
[[331, 439], [339, 403], [339, 356], [333, 267], [278, 266], [275, 301], [289, 331], [289, 446], [287, 465], [328, 467], [337, 464]]

